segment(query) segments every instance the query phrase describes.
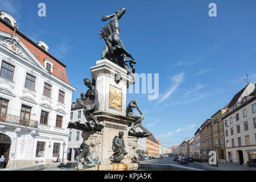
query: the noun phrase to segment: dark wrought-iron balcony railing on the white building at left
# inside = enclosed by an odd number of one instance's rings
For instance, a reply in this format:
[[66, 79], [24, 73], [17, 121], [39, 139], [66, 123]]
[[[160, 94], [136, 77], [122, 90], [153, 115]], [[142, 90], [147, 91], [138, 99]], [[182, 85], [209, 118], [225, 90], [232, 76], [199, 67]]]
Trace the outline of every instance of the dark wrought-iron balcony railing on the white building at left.
[[11, 114], [0, 113], [0, 121], [6, 123], [13, 123], [15, 125], [38, 128], [38, 121], [22, 118]]

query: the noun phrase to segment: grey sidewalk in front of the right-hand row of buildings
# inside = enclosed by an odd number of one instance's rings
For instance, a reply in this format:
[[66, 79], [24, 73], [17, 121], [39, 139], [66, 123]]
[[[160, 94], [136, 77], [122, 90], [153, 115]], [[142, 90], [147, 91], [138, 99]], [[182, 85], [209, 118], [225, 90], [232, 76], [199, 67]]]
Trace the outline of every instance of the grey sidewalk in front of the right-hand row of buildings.
[[[194, 163], [210, 169], [217, 169], [220, 171], [249, 171], [249, 167], [233, 163], [218, 163], [218, 167], [210, 166], [208, 163]], [[251, 171], [256, 171], [256, 167], [251, 167]]]

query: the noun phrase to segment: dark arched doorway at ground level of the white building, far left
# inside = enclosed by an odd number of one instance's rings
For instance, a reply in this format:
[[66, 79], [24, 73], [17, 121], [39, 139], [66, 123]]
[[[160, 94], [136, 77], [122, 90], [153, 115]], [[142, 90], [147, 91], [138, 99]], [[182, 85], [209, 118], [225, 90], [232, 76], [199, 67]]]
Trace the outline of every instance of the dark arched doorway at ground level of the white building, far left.
[[0, 156], [3, 155], [5, 157], [5, 167], [8, 164], [10, 147], [11, 147], [10, 137], [0, 133]]

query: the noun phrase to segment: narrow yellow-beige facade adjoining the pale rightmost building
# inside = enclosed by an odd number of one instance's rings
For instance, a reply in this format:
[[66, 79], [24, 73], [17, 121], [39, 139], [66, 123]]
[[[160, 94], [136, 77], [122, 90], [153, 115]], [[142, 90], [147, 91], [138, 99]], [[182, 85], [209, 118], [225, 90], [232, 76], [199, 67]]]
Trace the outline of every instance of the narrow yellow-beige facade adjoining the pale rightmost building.
[[222, 114], [226, 109], [218, 110], [217, 113], [212, 115], [213, 121], [213, 148], [217, 154], [218, 162], [225, 163], [225, 140], [224, 140], [224, 125], [222, 122]]

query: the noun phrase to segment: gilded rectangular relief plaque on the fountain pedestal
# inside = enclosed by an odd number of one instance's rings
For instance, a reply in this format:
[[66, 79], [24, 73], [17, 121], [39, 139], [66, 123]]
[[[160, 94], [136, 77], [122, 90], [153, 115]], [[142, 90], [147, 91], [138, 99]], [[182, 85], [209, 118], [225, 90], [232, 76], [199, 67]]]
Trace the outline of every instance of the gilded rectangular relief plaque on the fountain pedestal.
[[109, 107], [122, 110], [122, 89], [109, 85]]

